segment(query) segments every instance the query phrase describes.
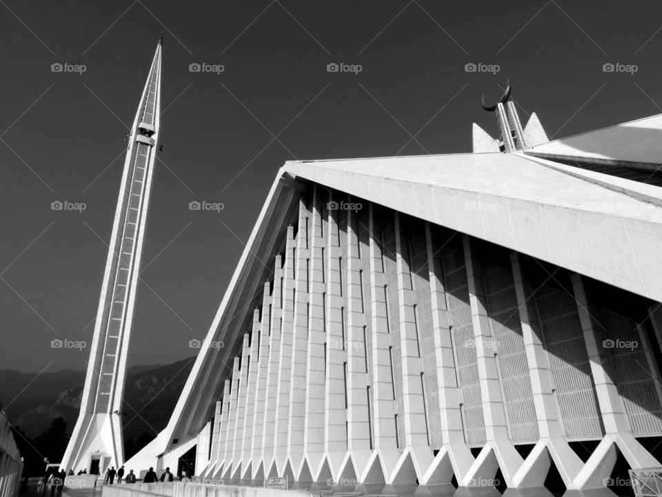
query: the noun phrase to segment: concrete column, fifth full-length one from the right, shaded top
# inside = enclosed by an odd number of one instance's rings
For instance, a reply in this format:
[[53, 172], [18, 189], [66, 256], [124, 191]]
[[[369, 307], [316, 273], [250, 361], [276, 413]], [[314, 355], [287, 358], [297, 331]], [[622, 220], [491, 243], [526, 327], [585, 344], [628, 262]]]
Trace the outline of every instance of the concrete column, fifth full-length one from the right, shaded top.
[[398, 276], [398, 306], [400, 314], [400, 351], [402, 358], [402, 396], [405, 444], [408, 447], [428, 446], [428, 422], [425, 419], [421, 351], [417, 329], [414, 289], [410, 273], [410, 249], [401, 215], [395, 213], [395, 251]]

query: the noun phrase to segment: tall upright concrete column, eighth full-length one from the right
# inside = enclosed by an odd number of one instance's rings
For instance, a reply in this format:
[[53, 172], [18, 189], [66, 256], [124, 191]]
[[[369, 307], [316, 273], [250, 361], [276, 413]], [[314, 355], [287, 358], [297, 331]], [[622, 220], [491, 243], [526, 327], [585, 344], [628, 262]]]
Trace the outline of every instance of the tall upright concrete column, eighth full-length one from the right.
[[[329, 202], [332, 206], [334, 202]], [[343, 351], [343, 298], [341, 288], [340, 237], [337, 209], [328, 209], [326, 240], [326, 419], [324, 445], [330, 454], [332, 471], [340, 461], [334, 458], [347, 451], [345, 408], [345, 351]]]

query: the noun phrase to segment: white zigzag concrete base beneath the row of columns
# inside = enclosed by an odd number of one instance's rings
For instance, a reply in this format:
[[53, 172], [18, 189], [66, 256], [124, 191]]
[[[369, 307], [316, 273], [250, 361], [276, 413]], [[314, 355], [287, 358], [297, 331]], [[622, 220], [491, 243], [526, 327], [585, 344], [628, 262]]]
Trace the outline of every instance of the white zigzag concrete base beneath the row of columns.
[[[525, 458], [508, 441], [488, 442], [476, 456], [466, 445], [445, 445], [436, 454], [429, 447], [407, 447], [399, 455], [379, 449], [368, 454], [348, 451], [340, 463], [338, 454], [324, 454], [321, 459], [319, 454], [304, 455], [297, 467], [291, 458], [280, 455], [266, 465], [268, 476], [288, 476], [289, 489], [334, 494], [552, 497], [545, 487], [550, 477], [554, 494], [565, 488], [567, 497], [614, 497], [610, 487], [617, 459], [618, 474], [624, 467], [659, 464], [629, 433], [605, 436], [585, 462], [561, 438], [539, 440]], [[513, 458], [519, 461], [513, 464]], [[312, 467], [310, 460], [321, 462]], [[243, 478], [202, 478], [201, 483], [260, 487], [263, 465], [264, 460], [257, 465], [250, 460], [245, 467], [242, 462], [234, 474]], [[626, 478], [627, 469], [622, 479]]]

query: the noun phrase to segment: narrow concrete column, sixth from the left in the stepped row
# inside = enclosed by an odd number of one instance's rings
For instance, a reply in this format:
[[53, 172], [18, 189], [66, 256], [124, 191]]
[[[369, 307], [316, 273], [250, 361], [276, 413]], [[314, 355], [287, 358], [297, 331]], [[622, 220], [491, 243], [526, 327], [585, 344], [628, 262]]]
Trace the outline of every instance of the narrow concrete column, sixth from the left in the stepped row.
[[257, 389], [255, 391], [255, 408], [253, 418], [253, 432], [250, 440], [250, 451], [253, 458], [253, 476], [258, 470], [259, 459], [262, 454], [264, 418], [266, 411], [267, 371], [269, 366], [269, 342], [272, 298], [271, 285], [265, 282], [262, 293], [262, 320], [260, 322], [259, 359], [257, 365]]

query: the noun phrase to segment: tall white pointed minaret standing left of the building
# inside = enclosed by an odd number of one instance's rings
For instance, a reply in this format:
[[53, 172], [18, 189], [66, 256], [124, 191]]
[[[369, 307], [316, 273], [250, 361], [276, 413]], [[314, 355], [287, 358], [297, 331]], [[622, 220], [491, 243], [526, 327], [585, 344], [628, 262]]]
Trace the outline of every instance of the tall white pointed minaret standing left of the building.
[[103, 274], [81, 411], [61, 462], [103, 474], [124, 462], [122, 399], [161, 113], [161, 45], [133, 121]]

